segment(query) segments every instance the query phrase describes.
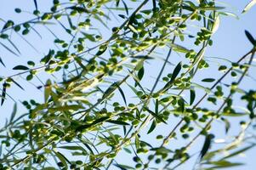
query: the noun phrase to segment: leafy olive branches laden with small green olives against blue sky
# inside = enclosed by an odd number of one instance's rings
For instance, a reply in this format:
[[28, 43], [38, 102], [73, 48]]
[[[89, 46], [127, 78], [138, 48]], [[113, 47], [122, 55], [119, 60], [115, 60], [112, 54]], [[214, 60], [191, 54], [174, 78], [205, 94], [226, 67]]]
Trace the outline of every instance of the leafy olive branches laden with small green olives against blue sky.
[[[1, 105], [15, 103], [0, 129], [1, 169], [175, 169], [196, 156], [200, 169], [242, 165], [230, 158], [255, 145], [247, 131], [255, 125], [256, 91], [239, 85], [250, 77], [256, 40], [246, 31], [253, 48], [237, 61], [221, 61], [219, 78], [197, 76], [216, 70], [205, 52], [221, 15], [230, 15], [219, 3], [54, 0], [48, 12], [33, 3], [34, 18], [20, 24], [2, 20], [0, 45], [17, 56], [16, 41], [37, 51], [26, 40], [30, 35], [53, 37], [54, 45], [40, 62], [28, 60], [13, 67], [14, 75], [1, 77]], [[157, 57], [162, 52], [166, 56]], [[169, 61], [173, 53], [175, 63]], [[2, 66], [8, 66], [4, 60]], [[9, 94], [13, 88], [29, 91], [20, 78], [43, 89], [43, 101], [21, 96], [17, 102]], [[198, 78], [202, 82], [194, 81]], [[241, 121], [233, 138], [228, 138], [230, 117]], [[215, 122], [225, 125], [225, 144], [216, 143]]]

